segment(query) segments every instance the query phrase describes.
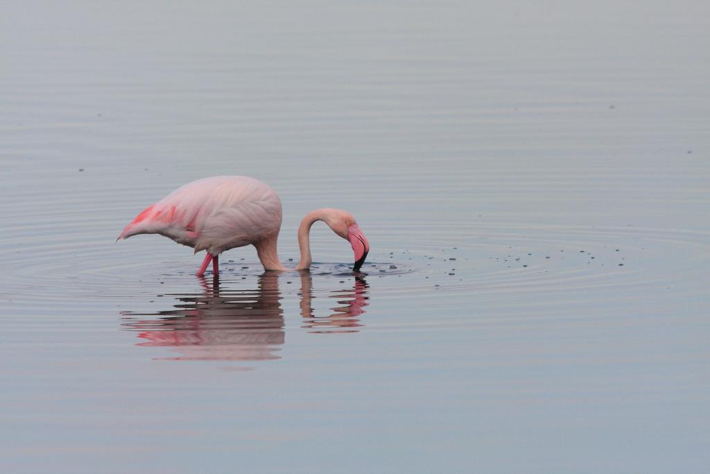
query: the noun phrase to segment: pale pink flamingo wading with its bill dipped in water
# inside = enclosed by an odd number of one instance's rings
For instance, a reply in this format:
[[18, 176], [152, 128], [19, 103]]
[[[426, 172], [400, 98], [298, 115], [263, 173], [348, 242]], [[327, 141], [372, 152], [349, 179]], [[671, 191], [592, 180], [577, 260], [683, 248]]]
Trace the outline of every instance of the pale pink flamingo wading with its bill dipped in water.
[[[207, 251], [197, 276], [212, 262], [219, 274], [219, 254], [253, 245], [266, 271], [289, 271], [278, 259], [276, 242], [281, 228], [281, 200], [266, 183], [247, 176], [213, 176], [187, 183], [148, 206], [116, 242], [138, 234], [160, 234], [178, 244]], [[308, 212], [298, 227], [300, 261], [293, 270], [307, 270], [312, 259], [309, 233], [322, 220], [336, 235], [348, 240], [355, 254], [353, 271], [360, 271], [370, 244], [350, 212], [322, 208]]]

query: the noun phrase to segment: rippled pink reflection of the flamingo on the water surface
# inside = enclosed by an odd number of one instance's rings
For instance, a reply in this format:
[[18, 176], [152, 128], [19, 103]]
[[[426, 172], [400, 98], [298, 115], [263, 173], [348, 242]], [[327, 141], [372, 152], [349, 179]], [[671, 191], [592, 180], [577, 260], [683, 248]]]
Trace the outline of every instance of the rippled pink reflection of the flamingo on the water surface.
[[[302, 327], [312, 333], [357, 332], [362, 324], [357, 316], [367, 306], [366, 281], [355, 279], [349, 289], [334, 291], [329, 298], [341, 306], [331, 308], [329, 316], [317, 317], [311, 307], [317, 298], [312, 291], [312, 276], [300, 275]], [[139, 331], [143, 347], [171, 348], [180, 355], [159, 360], [273, 360], [285, 343], [284, 310], [279, 291], [279, 275], [266, 272], [258, 276], [256, 289], [219, 288], [219, 281], [200, 277], [202, 293], [178, 296], [168, 311], [121, 313], [124, 328]], [[167, 295], [166, 295], [167, 296]], [[148, 317], [148, 318], [146, 318]]]

